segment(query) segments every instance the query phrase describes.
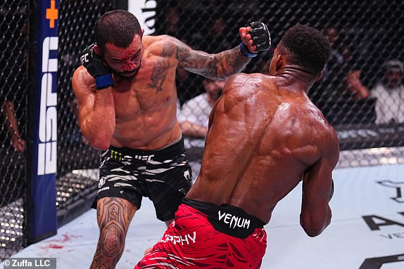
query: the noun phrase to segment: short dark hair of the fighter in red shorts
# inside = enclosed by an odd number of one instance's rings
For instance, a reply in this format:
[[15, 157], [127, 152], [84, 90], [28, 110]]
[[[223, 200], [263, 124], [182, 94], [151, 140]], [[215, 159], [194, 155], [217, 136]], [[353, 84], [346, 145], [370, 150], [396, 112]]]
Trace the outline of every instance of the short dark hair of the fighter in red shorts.
[[320, 74], [330, 54], [330, 44], [319, 30], [297, 24], [288, 29], [279, 42], [286, 50], [289, 63]]

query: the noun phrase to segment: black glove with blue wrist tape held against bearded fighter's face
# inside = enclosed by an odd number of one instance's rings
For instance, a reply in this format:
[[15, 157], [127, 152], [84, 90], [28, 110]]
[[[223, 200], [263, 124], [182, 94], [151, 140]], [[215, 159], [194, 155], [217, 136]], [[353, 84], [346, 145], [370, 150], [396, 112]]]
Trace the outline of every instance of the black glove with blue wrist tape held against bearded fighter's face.
[[91, 44], [84, 48], [80, 54], [80, 62], [91, 76], [96, 79], [96, 88], [102, 89], [113, 85], [112, 70], [104, 65], [102, 58], [94, 51], [94, 46]]

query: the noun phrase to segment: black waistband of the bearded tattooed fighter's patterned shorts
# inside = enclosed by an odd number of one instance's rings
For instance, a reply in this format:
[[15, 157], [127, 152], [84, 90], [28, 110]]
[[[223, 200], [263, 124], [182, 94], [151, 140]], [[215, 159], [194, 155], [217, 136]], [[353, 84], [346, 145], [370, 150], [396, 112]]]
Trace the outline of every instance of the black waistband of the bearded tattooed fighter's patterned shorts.
[[184, 153], [185, 147], [184, 147], [184, 138], [182, 137], [177, 143], [169, 145], [168, 147], [163, 147], [158, 150], [138, 150], [130, 147], [113, 147], [113, 146], [110, 146], [109, 150], [122, 153], [122, 155], [129, 155], [132, 157], [156, 155], [154, 159], [170, 159]]

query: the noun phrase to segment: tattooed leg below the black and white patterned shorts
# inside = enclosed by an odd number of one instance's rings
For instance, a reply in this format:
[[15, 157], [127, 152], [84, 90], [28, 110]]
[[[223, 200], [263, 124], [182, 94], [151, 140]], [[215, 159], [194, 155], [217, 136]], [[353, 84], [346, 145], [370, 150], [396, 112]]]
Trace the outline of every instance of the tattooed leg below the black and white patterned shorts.
[[136, 206], [125, 199], [105, 197], [97, 202], [100, 235], [91, 269], [113, 269], [122, 256], [125, 237]]

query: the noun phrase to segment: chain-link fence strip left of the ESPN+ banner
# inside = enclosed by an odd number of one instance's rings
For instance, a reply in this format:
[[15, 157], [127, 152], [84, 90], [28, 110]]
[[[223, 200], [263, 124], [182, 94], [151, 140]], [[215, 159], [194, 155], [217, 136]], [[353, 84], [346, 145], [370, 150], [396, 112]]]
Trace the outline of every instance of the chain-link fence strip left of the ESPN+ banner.
[[26, 243], [29, 15], [26, 0], [0, 3], [0, 261]]

